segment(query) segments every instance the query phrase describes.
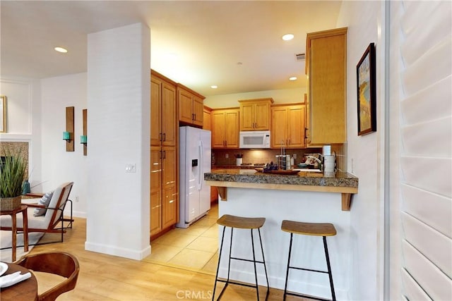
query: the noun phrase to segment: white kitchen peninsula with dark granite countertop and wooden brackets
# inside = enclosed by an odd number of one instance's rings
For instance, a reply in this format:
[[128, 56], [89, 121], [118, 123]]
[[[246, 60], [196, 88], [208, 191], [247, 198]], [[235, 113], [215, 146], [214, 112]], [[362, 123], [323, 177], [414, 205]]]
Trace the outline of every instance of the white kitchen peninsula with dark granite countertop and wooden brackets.
[[[264, 255], [270, 287], [284, 289], [290, 235], [280, 230], [284, 219], [313, 223], [333, 223], [338, 234], [328, 237], [331, 269], [338, 299], [347, 300], [350, 285], [350, 200], [358, 191], [358, 179], [349, 173], [311, 173], [301, 171], [293, 176], [261, 173], [247, 169], [217, 169], [205, 173], [207, 185], [218, 187], [222, 200], [218, 214], [265, 217], [261, 229]], [[339, 202], [342, 201], [340, 210]], [[220, 229], [222, 231], [222, 229]], [[225, 244], [230, 232], [226, 231]], [[221, 232], [220, 232], [221, 234]], [[220, 235], [221, 238], [221, 235]], [[234, 230], [234, 257], [252, 256], [249, 231]], [[255, 243], [257, 240], [255, 241]], [[227, 255], [227, 250], [223, 250]], [[256, 257], [261, 258], [260, 252]], [[225, 255], [225, 256], [226, 256]], [[296, 235], [292, 250], [292, 265], [326, 270], [321, 238]], [[225, 276], [227, 261], [220, 264], [220, 276]], [[328, 276], [306, 271], [291, 271], [295, 276], [288, 290], [330, 298]], [[254, 283], [249, 262], [231, 262], [231, 278]], [[259, 283], [265, 283], [263, 269], [258, 269]]]

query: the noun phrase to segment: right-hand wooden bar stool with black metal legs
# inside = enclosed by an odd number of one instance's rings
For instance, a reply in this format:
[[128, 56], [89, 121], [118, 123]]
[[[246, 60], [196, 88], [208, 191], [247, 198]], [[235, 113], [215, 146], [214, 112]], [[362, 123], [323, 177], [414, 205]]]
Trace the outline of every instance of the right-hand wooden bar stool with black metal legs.
[[[300, 221], [287, 221], [284, 220], [281, 223], [281, 230], [290, 233], [290, 245], [289, 245], [289, 258], [287, 259], [287, 270], [285, 274], [285, 285], [284, 285], [284, 299], [286, 295], [293, 295], [297, 297], [306, 297], [314, 300], [325, 300], [320, 297], [313, 297], [309, 295], [303, 295], [299, 293], [287, 292], [287, 279], [289, 278], [289, 269], [298, 269], [303, 271], [313, 271], [317, 273], [325, 273], [328, 274], [330, 278], [330, 288], [331, 288], [331, 297], [333, 300], [336, 300], [334, 285], [333, 285], [333, 275], [331, 274], [331, 264], [330, 264], [330, 256], [328, 254], [328, 246], [326, 245], [326, 236], [334, 236], [336, 235], [336, 229], [334, 228], [332, 223], [302, 223]], [[297, 266], [290, 266], [290, 254], [292, 253], [292, 238], [295, 234], [301, 235], [314, 235], [314, 236], [322, 236], [323, 237], [323, 249], [325, 250], [326, 257], [326, 266], [328, 268], [327, 271], [319, 271], [313, 269], [304, 269]]]

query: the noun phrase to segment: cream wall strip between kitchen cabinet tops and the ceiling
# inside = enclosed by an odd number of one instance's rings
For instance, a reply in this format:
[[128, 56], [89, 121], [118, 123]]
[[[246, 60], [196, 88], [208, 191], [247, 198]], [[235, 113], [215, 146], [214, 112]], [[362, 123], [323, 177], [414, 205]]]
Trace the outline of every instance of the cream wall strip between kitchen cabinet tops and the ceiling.
[[272, 97], [275, 104], [304, 102], [305, 88], [268, 90], [237, 94], [222, 94], [206, 97], [204, 104], [212, 109], [239, 106], [239, 100]]

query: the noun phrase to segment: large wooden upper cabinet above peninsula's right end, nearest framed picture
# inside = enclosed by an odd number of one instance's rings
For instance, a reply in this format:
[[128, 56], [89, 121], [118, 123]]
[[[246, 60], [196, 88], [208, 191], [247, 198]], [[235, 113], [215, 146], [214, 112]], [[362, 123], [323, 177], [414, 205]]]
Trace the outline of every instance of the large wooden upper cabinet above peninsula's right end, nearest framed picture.
[[307, 34], [309, 145], [344, 143], [347, 27]]

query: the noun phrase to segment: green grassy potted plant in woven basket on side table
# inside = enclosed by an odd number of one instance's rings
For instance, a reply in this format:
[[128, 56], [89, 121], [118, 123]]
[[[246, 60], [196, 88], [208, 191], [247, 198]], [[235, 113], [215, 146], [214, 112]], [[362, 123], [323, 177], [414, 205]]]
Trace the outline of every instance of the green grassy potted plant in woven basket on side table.
[[20, 207], [20, 195], [27, 164], [22, 154], [4, 152], [0, 165], [0, 209], [11, 211]]

